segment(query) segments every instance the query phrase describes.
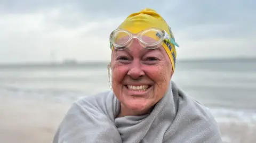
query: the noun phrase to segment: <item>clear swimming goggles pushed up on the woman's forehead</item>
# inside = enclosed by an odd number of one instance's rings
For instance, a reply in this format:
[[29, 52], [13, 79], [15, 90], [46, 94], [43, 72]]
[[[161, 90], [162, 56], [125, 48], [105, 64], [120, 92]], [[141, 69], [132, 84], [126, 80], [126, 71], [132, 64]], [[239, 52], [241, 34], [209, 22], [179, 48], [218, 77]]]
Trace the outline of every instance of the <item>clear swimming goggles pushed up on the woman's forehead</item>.
[[112, 49], [114, 46], [115, 49], [123, 50], [132, 44], [134, 38], [137, 38], [140, 45], [147, 49], [158, 48], [164, 41], [178, 45], [174, 38], [170, 38], [169, 34], [162, 29], [149, 28], [135, 34], [125, 29], [116, 29], [111, 32], [109, 37], [110, 48]]

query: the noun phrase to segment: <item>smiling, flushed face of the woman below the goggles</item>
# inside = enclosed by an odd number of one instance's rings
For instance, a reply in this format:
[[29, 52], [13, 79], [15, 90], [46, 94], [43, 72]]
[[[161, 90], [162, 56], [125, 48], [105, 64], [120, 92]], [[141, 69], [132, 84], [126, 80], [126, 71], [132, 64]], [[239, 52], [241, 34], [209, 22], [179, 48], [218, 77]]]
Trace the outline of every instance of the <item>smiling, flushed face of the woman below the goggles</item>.
[[121, 102], [121, 114], [145, 114], [166, 93], [172, 76], [163, 47], [146, 49], [137, 39], [111, 55], [112, 88]]

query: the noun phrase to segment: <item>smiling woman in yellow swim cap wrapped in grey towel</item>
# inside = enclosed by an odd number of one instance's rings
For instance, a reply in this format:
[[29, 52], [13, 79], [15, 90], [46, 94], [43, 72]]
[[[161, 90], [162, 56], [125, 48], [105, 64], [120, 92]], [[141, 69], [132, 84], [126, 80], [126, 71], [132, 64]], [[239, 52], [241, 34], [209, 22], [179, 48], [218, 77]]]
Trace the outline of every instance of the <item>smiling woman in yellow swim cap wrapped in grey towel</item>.
[[174, 45], [154, 10], [129, 15], [110, 35], [113, 91], [75, 102], [53, 142], [221, 142], [212, 114], [171, 81]]

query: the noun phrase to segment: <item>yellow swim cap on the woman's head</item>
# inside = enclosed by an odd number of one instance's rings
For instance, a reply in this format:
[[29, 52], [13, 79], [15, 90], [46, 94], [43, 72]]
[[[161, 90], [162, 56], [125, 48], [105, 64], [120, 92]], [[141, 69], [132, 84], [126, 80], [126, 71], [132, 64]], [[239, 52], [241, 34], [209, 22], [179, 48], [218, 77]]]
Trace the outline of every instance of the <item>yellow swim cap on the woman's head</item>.
[[169, 41], [164, 41], [163, 47], [171, 60], [172, 68], [174, 71], [177, 56], [175, 46], [179, 47], [179, 45], [175, 43], [171, 28], [168, 26], [162, 16], [159, 15], [156, 11], [152, 9], [143, 9], [140, 12], [132, 13], [121, 23], [118, 28], [129, 30], [132, 33], [138, 33], [151, 27], [165, 30], [169, 34], [170, 39]]

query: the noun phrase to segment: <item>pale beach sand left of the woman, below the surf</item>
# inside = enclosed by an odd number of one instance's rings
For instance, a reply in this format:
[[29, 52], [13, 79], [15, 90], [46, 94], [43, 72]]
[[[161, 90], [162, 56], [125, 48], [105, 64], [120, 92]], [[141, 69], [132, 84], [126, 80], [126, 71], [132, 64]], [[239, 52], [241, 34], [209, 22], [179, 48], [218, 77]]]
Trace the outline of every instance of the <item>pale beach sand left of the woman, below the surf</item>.
[[70, 104], [1, 98], [0, 142], [52, 142]]

